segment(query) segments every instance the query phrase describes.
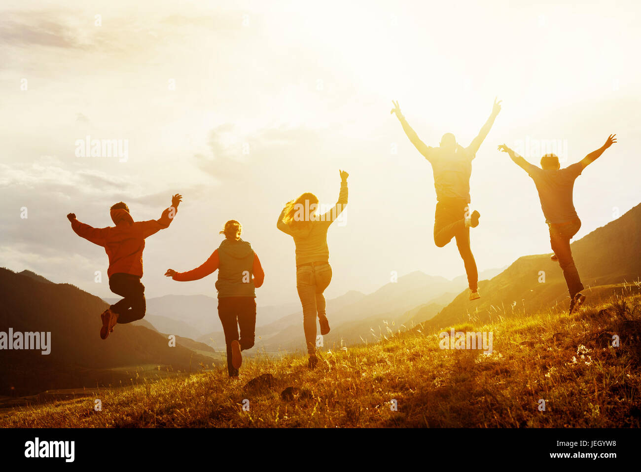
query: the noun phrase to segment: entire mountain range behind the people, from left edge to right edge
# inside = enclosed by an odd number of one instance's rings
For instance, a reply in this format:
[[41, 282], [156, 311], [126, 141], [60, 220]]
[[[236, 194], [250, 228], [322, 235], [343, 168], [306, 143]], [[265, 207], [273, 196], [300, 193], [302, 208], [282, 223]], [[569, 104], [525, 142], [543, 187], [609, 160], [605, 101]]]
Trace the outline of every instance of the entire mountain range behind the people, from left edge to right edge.
[[[641, 205], [572, 243], [588, 304], [621, 287], [641, 286], [640, 247]], [[332, 329], [323, 339], [324, 347], [375, 342], [412, 327], [449, 328], [565, 304], [565, 280], [550, 255], [520, 257], [503, 271], [481, 273], [481, 299], [476, 301], [469, 301], [464, 278], [447, 280], [420, 272], [402, 276], [371, 294], [349, 291], [329, 299]], [[149, 299], [144, 319], [118, 325], [103, 341], [98, 334], [99, 314], [108, 305], [78, 287], [52, 283], [29, 271], [2, 268], [0, 296], [0, 332], [8, 328], [51, 332], [49, 355], [38, 350], [0, 352], [0, 395], [113, 385], [127, 382], [144, 366], [146, 375], [151, 370], [160, 375], [196, 369], [199, 364], [224, 364], [224, 337], [218, 328], [215, 298], [168, 295]], [[247, 354], [259, 349], [302, 350], [302, 318], [297, 301], [259, 307], [256, 346]], [[214, 327], [218, 329], [212, 330]], [[169, 347], [168, 334], [176, 335], [176, 347]]]

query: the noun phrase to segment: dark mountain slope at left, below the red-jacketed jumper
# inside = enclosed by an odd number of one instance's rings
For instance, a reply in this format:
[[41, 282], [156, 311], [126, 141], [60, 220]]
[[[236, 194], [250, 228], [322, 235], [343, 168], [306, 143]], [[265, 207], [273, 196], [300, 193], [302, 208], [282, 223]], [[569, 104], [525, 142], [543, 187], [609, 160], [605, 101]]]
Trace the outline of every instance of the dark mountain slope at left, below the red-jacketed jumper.
[[21, 396], [129, 378], [126, 373], [118, 375], [114, 367], [157, 364], [185, 370], [200, 362], [212, 363], [211, 357], [188, 349], [180, 340], [176, 347], [169, 347], [165, 335], [144, 326], [118, 325], [103, 341], [100, 314], [108, 305], [67, 283], [40, 281], [2, 268], [0, 298], [0, 331], [51, 332], [49, 355], [40, 350], [0, 351], [0, 395]]

